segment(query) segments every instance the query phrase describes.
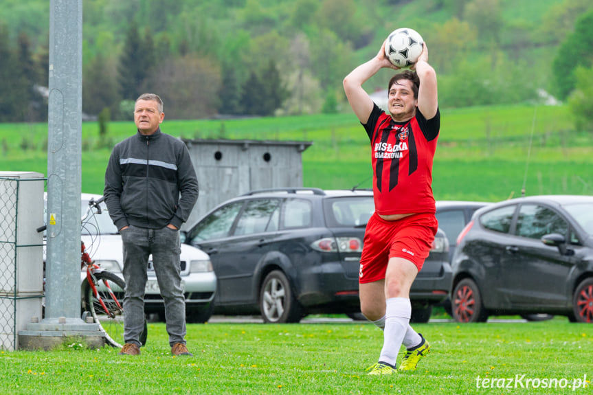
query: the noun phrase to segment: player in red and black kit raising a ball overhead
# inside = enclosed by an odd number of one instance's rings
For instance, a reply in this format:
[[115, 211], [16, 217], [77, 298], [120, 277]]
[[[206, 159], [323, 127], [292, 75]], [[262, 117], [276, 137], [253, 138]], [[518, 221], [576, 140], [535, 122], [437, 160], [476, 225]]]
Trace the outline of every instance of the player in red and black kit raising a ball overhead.
[[432, 195], [432, 159], [440, 128], [436, 74], [424, 44], [418, 62], [389, 82], [390, 115], [374, 104], [362, 84], [382, 68], [399, 69], [377, 56], [344, 78], [350, 106], [370, 138], [375, 212], [368, 221], [360, 260], [361, 312], [383, 329], [379, 362], [369, 374], [414, 370], [430, 346], [410, 326], [410, 287], [432, 247], [438, 227]]

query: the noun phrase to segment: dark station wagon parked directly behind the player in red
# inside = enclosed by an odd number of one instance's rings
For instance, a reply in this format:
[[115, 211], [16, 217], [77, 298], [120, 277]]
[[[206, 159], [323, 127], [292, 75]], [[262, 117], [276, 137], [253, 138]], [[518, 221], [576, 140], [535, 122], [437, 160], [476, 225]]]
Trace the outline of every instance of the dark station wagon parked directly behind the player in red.
[[[357, 313], [359, 260], [373, 212], [368, 190], [258, 190], [205, 214], [184, 242], [210, 256], [215, 314], [261, 314], [284, 323], [309, 313]], [[443, 300], [451, 282], [440, 232], [432, 261], [412, 286], [421, 311]]]

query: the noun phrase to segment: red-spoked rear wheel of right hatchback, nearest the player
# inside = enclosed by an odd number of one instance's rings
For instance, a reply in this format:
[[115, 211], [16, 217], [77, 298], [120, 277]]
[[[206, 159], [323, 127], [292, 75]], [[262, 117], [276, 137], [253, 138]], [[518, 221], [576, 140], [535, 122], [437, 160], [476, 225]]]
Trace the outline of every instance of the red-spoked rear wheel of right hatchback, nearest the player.
[[456, 285], [452, 299], [453, 317], [456, 321], [485, 322], [488, 319], [478, 285], [470, 278], [465, 278]]

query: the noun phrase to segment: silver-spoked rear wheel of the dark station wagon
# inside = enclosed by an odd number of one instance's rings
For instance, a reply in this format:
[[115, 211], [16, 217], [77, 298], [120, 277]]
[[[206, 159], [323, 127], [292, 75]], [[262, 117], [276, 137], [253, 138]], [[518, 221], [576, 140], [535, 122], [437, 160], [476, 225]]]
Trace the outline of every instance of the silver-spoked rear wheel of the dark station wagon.
[[300, 321], [302, 308], [282, 271], [271, 271], [262, 283], [260, 311], [267, 323], [284, 324]]

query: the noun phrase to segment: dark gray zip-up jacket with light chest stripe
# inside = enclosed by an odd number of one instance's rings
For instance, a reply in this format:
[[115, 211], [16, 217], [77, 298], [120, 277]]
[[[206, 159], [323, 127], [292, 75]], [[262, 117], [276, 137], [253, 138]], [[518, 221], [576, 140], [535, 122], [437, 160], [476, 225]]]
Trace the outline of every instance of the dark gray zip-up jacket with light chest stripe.
[[169, 223], [179, 229], [199, 194], [186, 144], [160, 128], [152, 135], [138, 132], [115, 144], [103, 194], [118, 229], [126, 225], [161, 229]]

